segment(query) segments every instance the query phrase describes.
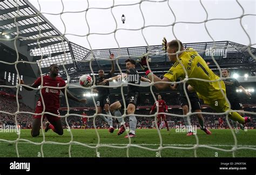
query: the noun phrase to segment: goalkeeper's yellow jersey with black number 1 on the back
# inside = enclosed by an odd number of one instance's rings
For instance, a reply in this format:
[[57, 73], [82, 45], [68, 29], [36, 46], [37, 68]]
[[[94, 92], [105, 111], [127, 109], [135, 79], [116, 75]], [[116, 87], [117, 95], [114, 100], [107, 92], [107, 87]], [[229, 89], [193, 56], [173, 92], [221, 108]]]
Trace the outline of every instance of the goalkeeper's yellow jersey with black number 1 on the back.
[[[191, 80], [191, 78], [210, 81], [219, 79], [219, 76], [212, 72], [205, 60], [201, 58], [200, 55], [193, 50], [193, 48], [187, 48], [186, 51], [179, 56], [179, 59], [186, 69], [189, 78], [187, 81], [188, 84], [190, 84], [194, 90], [196, 90], [200, 99], [203, 99], [207, 104], [214, 103], [214, 100], [224, 99], [220, 89], [224, 90], [224, 93], [226, 93], [226, 88], [222, 80], [215, 82]], [[184, 79], [185, 72], [177, 60], [164, 76], [174, 82], [179, 77]]]

